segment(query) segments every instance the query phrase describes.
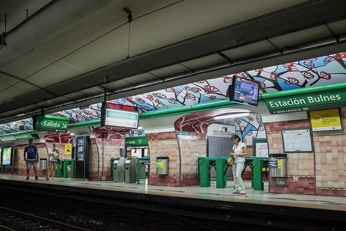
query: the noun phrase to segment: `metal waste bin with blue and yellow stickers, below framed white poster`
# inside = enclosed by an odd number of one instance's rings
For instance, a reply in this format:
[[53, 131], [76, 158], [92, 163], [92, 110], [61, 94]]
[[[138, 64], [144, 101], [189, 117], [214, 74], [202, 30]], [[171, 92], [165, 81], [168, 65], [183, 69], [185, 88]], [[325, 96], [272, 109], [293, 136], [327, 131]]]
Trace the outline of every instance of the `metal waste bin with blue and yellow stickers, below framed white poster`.
[[287, 154], [269, 154], [269, 176], [287, 177]]

